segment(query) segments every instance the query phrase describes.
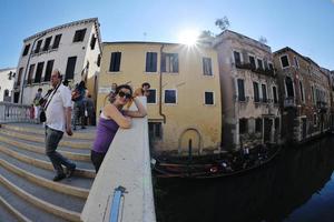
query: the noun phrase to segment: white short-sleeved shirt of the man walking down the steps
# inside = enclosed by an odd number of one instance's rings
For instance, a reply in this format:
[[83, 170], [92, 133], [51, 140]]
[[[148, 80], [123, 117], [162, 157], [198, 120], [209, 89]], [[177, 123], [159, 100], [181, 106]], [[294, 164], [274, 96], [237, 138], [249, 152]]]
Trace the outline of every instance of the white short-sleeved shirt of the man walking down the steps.
[[52, 94], [53, 92], [48, 99], [51, 101], [46, 111], [47, 114], [46, 124], [53, 130], [59, 130], [65, 132], [66, 129], [65, 109], [71, 108], [71, 92], [70, 90], [68, 90], [67, 87], [60, 83], [53, 97]]

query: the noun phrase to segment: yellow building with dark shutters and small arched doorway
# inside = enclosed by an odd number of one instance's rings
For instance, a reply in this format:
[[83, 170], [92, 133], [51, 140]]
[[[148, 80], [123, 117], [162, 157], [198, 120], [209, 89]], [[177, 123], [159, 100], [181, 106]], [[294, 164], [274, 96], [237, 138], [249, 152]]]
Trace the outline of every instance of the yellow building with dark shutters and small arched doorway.
[[150, 83], [147, 98], [155, 153], [220, 151], [222, 101], [217, 52], [208, 47], [159, 42], [105, 42], [97, 111], [111, 83]]

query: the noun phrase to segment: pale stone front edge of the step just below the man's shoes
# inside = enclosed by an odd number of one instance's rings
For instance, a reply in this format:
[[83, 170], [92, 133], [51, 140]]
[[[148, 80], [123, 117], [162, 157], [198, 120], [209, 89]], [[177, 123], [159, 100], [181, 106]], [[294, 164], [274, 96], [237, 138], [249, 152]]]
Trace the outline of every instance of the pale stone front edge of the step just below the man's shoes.
[[40, 185], [40, 186], [43, 186], [43, 188], [47, 188], [47, 189], [50, 189], [50, 190], [53, 190], [53, 191], [57, 191], [60, 193], [65, 193], [68, 195], [81, 198], [85, 200], [88, 198], [88, 193], [89, 193], [88, 189], [76, 188], [72, 185], [67, 185], [67, 184], [53, 182], [51, 180], [47, 180], [42, 176], [36, 175], [23, 169], [20, 169], [18, 167], [11, 164], [10, 162], [6, 161], [4, 159], [0, 159], [0, 165], [2, 168], [4, 168], [7, 171], [14, 173], [14, 174], [23, 178], [26, 181], [29, 181], [37, 185]]

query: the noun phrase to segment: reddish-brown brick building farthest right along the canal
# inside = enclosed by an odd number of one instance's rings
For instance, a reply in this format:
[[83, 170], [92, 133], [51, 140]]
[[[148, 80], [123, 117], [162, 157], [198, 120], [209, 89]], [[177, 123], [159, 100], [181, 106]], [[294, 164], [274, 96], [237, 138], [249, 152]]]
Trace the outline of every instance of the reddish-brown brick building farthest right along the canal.
[[312, 59], [291, 48], [274, 52], [279, 81], [282, 135], [299, 143], [330, 129], [328, 75]]

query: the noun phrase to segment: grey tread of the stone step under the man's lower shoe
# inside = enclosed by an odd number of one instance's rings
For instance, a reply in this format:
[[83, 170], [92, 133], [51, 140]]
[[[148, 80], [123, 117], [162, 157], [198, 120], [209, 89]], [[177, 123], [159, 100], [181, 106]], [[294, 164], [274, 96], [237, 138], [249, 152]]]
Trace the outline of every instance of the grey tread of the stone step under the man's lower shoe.
[[[36, 176], [43, 178], [45, 180], [52, 181], [55, 173], [50, 170], [45, 170], [38, 167], [35, 167], [30, 163], [21, 162], [10, 155], [7, 155], [4, 153], [0, 152], [0, 158], [9, 162], [10, 164], [14, 165], [16, 168], [19, 168], [21, 170], [24, 170]], [[63, 179], [61, 181], [58, 181], [57, 183], [67, 184], [75, 188], [81, 188], [84, 190], [89, 190], [91, 184], [94, 182], [94, 179], [90, 178], [82, 178], [78, 175], [73, 175], [71, 178]]]

